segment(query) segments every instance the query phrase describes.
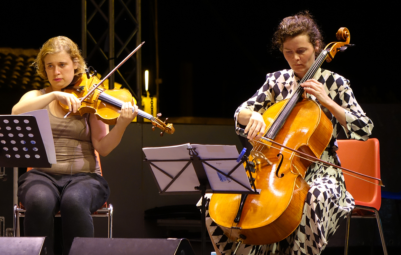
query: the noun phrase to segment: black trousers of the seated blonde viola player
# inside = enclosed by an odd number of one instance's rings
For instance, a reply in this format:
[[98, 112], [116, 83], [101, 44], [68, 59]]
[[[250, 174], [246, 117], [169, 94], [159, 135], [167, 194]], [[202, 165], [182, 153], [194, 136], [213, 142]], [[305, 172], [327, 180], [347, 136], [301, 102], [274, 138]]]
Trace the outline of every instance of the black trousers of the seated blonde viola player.
[[109, 195], [107, 182], [95, 173], [48, 175], [32, 169], [18, 179], [18, 197], [26, 209], [24, 235], [54, 242], [54, 216], [60, 211], [68, 254], [75, 237], [94, 236], [91, 214]]

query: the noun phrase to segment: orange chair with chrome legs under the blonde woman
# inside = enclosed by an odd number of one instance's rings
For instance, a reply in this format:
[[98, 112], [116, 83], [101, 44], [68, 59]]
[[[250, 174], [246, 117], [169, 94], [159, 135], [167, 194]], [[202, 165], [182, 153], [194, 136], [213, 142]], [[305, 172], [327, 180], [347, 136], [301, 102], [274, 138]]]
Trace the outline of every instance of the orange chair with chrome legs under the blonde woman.
[[[99, 158], [99, 153], [95, 151], [95, 155], [97, 158], [97, 163], [99, 164], [100, 168], [100, 173], [101, 172], [101, 165], [100, 165], [100, 158]], [[26, 169], [26, 171], [29, 171], [32, 168]], [[107, 217], [108, 218], [108, 233], [107, 237], [108, 238], [113, 238], [113, 205], [109, 204], [107, 207], [107, 202], [97, 211], [95, 211], [92, 215], [92, 217]], [[19, 237], [20, 236], [20, 217], [25, 217], [25, 208], [24, 206], [20, 203], [20, 206], [14, 205], [14, 237]], [[58, 212], [55, 217], [61, 217], [60, 212]]]

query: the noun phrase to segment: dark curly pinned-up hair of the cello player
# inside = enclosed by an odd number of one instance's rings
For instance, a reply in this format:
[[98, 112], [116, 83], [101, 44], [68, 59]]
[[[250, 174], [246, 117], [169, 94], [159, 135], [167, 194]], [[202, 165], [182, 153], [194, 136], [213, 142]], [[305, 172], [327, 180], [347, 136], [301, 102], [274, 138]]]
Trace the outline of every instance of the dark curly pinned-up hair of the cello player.
[[323, 37], [316, 21], [308, 11], [298, 12], [294, 16], [284, 18], [273, 35], [273, 48], [278, 48], [283, 52], [283, 44], [289, 37], [300, 34], [309, 36], [310, 43], [318, 50], [315, 52], [317, 57], [323, 49]]

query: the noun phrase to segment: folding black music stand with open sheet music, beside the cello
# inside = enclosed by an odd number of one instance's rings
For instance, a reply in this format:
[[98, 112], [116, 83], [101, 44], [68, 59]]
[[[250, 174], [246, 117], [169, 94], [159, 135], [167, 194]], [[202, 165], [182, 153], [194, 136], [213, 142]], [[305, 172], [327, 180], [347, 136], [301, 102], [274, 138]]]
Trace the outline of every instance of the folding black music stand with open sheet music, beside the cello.
[[202, 255], [206, 252], [205, 193], [259, 194], [245, 173], [246, 158], [238, 157], [235, 146], [185, 144], [142, 150], [160, 195], [202, 195]]

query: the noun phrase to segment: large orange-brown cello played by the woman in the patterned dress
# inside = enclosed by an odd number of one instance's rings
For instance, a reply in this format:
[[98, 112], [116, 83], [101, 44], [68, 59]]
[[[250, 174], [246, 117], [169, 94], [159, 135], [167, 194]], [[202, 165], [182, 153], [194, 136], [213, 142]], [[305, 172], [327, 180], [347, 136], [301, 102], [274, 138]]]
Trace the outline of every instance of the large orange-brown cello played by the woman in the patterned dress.
[[[324, 60], [330, 62], [336, 52], [350, 46], [348, 29], [340, 28], [336, 36], [340, 42], [326, 46], [299, 84], [311, 79]], [[310, 189], [304, 180], [310, 159], [320, 159], [333, 127], [317, 102], [302, 99], [304, 90], [299, 84], [290, 99], [273, 104], [263, 114], [267, 131], [263, 139], [255, 141], [250, 156], [257, 163], [253, 177], [260, 195], [211, 197], [211, 219], [234, 241], [275, 243], [300, 224]], [[272, 147], [272, 142], [281, 145]], [[304, 157], [298, 157], [300, 154]]]

